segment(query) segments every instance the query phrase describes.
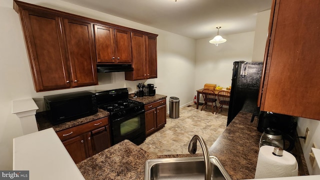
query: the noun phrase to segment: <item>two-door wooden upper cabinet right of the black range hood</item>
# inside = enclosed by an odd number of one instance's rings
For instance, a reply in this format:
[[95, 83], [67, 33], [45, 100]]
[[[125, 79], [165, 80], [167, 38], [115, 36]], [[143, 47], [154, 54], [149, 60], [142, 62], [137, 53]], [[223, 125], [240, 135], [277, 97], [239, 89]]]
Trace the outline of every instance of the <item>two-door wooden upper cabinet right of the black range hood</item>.
[[131, 32], [133, 71], [125, 72], [125, 80], [157, 77], [156, 36]]

